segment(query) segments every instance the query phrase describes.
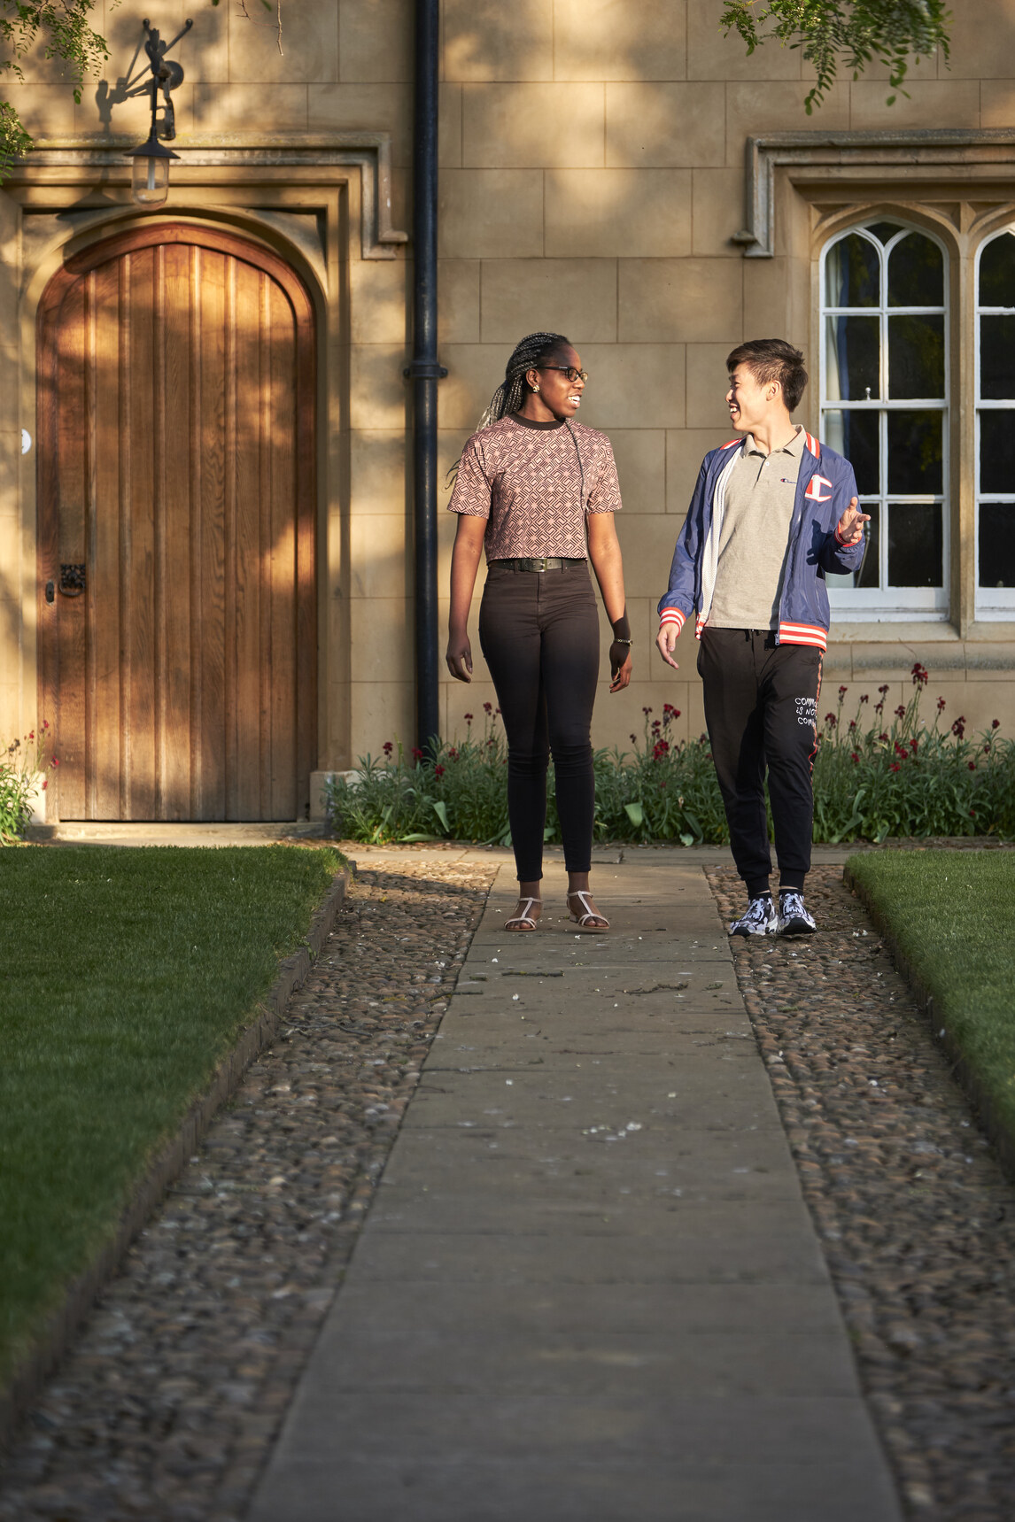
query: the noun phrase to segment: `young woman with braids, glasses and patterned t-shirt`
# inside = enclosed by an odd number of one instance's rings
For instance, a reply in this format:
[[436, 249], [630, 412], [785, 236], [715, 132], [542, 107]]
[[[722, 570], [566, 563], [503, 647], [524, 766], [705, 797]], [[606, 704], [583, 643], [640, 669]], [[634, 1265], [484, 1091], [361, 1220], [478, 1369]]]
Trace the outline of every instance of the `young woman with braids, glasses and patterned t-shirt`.
[[587, 374], [562, 333], [530, 333], [507, 364], [479, 431], [458, 461], [450, 511], [447, 668], [472, 680], [467, 619], [479, 556], [487, 583], [479, 644], [508, 741], [508, 819], [519, 903], [505, 930], [536, 930], [542, 909], [546, 767], [554, 756], [568, 869], [568, 913], [609, 930], [589, 892], [595, 782], [592, 705], [600, 622], [589, 560], [613, 626], [610, 693], [632, 679], [632, 633], [613, 513], [621, 493], [604, 434], [572, 422]]

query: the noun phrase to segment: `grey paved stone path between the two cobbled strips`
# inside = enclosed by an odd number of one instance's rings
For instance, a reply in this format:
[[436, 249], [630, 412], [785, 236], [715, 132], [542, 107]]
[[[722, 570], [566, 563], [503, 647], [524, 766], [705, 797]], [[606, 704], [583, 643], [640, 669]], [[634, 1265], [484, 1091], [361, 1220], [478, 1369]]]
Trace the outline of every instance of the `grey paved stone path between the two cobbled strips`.
[[501, 872], [251, 1522], [898, 1522], [700, 864]]

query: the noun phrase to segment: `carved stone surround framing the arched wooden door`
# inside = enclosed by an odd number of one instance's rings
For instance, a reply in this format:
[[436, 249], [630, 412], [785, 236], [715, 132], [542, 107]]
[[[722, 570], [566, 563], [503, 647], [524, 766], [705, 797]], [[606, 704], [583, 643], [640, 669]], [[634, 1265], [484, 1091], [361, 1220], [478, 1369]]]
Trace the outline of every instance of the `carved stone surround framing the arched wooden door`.
[[[140, 221], [218, 222], [266, 244], [303, 277], [318, 309], [318, 749], [348, 747], [348, 639], [335, 619], [348, 616], [350, 565], [342, 530], [348, 495], [350, 263], [361, 279], [377, 260], [399, 257], [408, 234], [391, 222], [391, 135], [388, 132], [202, 132], [181, 134], [169, 201], [143, 210], [131, 201], [131, 160], [137, 137], [38, 139], [12, 164], [0, 189], [0, 237], [17, 265], [6, 300], [0, 295], [5, 342], [18, 356], [20, 388], [5, 426], [35, 435], [35, 315], [50, 277], [68, 253]], [[358, 247], [359, 245], [359, 247]], [[8, 347], [11, 355], [11, 347]], [[35, 452], [20, 461], [21, 688], [33, 709], [35, 691]], [[338, 633], [338, 638], [336, 638]]]

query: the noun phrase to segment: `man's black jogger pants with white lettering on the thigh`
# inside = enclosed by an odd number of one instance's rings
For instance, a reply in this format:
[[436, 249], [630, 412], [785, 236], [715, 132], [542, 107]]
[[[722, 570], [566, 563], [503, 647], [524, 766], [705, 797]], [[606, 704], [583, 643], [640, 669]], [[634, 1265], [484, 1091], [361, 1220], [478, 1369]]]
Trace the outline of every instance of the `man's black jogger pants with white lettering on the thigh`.
[[698, 673], [733, 861], [747, 893], [764, 892], [772, 874], [765, 769], [779, 886], [802, 889], [811, 866], [822, 651], [776, 645], [772, 630], [706, 627]]

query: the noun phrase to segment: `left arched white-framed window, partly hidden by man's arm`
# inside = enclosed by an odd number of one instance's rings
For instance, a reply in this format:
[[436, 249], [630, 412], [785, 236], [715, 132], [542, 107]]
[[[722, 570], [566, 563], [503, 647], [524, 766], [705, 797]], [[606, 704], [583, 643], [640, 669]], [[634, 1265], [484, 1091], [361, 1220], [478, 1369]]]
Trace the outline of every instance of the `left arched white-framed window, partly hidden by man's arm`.
[[947, 292], [945, 250], [901, 222], [854, 227], [822, 259], [819, 431], [870, 514], [863, 566], [828, 578], [840, 616], [948, 613]]

